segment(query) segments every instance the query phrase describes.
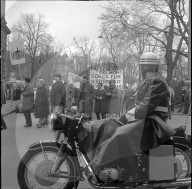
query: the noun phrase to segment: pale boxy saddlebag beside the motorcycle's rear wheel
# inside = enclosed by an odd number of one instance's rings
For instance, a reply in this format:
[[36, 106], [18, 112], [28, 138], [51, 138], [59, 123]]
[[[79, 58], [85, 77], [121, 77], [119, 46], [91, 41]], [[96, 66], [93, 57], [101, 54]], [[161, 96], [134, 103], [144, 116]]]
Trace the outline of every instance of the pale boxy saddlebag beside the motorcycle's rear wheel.
[[174, 147], [172, 145], [160, 145], [149, 150], [149, 180], [174, 180]]

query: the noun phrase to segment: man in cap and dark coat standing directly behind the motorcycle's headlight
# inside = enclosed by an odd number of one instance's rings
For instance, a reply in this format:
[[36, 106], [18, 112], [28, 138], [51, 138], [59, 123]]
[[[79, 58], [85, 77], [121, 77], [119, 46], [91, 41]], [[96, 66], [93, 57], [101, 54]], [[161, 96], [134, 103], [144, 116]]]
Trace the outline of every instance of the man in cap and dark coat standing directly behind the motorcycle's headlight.
[[61, 81], [61, 74], [54, 75], [54, 83], [52, 85], [50, 101], [52, 106], [52, 112], [63, 112], [63, 106], [65, 106], [65, 86]]

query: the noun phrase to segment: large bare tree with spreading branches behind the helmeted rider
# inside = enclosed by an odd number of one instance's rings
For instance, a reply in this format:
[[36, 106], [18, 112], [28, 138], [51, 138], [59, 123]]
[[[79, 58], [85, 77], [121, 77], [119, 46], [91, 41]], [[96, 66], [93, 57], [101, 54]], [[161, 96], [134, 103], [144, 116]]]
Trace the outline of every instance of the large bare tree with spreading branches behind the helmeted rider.
[[[103, 26], [118, 28], [120, 33], [135, 33], [135, 36], [139, 34], [140, 37], [132, 39], [142, 40], [141, 34], [144, 34], [144, 39], [153, 38], [152, 44], [149, 40], [140, 42], [147, 42], [148, 47], [153, 46], [152, 51], [164, 51], [167, 80], [171, 80], [179, 56], [188, 56], [188, 53], [183, 51], [183, 45], [186, 46], [188, 40], [188, 17], [185, 7], [184, 0], [110, 2], [104, 7], [101, 20]], [[161, 24], [163, 17], [169, 20], [165, 27]], [[129, 38], [128, 43], [133, 41], [132, 39]], [[137, 43], [133, 41], [132, 44]], [[142, 49], [140, 50], [142, 52]]]

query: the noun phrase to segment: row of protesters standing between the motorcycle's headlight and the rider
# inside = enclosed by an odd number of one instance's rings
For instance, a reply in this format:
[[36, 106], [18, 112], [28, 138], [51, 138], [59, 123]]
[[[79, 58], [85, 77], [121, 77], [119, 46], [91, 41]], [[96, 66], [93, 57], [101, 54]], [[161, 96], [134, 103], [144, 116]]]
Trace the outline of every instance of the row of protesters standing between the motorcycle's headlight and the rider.
[[[109, 86], [98, 83], [97, 89], [94, 89], [94, 86], [89, 83], [88, 76], [83, 77], [79, 89], [68, 81], [62, 84], [60, 74], [56, 74], [54, 80], [56, 82], [53, 84], [50, 93], [53, 113], [61, 112], [63, 108], [70, 110], [75, 105], [78, 106], [79, 113], [84, 113], [90, 120], [93, 111], [97, 119], [116, 118], [120, 116], [123, 110], [123, 101], [125, 102], [128, 99], [128, 96], [116, 87], [115, 80], [109, 81]], [[128, 108], [128, 105], [126, 108]]]

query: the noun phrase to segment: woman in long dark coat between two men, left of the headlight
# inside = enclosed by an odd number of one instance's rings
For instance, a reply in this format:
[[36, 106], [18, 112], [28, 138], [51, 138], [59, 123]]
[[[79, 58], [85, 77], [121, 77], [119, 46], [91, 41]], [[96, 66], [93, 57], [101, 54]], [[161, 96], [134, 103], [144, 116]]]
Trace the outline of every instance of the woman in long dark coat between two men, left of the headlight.
[[48, 89], [45, 87], [45, 82], [43, 79], [39, 79], [37, 83], [37, 92], [35, 99], [35, 117], [39, 118], [39, 123], [37, 128], [48, 124], [49, 115], [49, 93]]

